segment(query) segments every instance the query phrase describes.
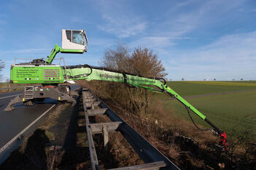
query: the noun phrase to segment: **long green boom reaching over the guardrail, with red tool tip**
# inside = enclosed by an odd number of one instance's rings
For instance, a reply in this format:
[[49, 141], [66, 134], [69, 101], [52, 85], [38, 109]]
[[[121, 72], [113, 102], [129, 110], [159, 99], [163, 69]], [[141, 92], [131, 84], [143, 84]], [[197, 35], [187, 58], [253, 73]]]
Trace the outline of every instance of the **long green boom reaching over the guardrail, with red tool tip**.
[[[65, 71], [63, 71], [65, 72]], [[65, 73], [64, 73], [65, 74]], [[76, 66], [67, 66], [66, 75], [67, 80], [81, 80], [85, 79], [87, 81], [98, 80], [98, 81], [115, 81], [125, 83], [134, 87], [141, 87], [148, 89], [152, 92], [166, 93], [171, 97], [176, 98], [189, 110], [192, 110], [197, 116], [199, 116], [203, 121], [206, 121], [210, 126], [213, 127], [212, 130], [221, 137], [222, 145], [226, 147], [226, 134], [224, 131], [221, 131], [217, 128], [212, 122], [210, 122], [206, 116], [204, 116], [199, 110], [193, 107], [189, 102], [187, 102], [183, 97], [181, 97], [177, 92], [174, 92], [169, 86], [166, 85], [166, 81], [160, 81], [158, 78], [144, 78], [141, 76], [135, 76], [131, 73], [118, 73], [117, 71], [108, 70], [106, 68], [97, 68], [90, 65], [76, 65]], [[154, 86], [154, 87], [152, 87]], [[156, 89], [157, 88], [157, 89]], [[194, 122], [193, 122], [194, 123]], [[196, 126], [196, 125], [195, 125]]]

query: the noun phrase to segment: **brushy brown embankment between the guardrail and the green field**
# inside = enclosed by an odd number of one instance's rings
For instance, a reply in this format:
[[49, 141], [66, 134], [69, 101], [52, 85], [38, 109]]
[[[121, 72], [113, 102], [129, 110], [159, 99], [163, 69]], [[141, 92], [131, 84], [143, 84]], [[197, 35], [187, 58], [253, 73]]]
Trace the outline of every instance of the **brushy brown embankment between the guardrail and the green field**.
[[[88, 82], [80, 82], [97, 94], [97, 89]], [[191, 122], [170, 116], [160, 100], [151, 101], [150, 113], [139, 118], [123, 109], [117, 101], [98, 94], [107, 105], [128, 122], [136, 131], [158, 148], [181, 169], [252, 169], [255, 163], [255, 145], [242, 141], [243, 146], [236, 146], [237, 140], [230, 141], [227, 151], [222, 151], [220, 139], [210, 131], [199, 131]], [[115, 135], [115, 134], [113, 134]], [[115, 144], [114, 144], [115, 147]], [[236, 153], [236, 151], [238, 153]], [[249, 152], [248, 152], [249, 150]]]

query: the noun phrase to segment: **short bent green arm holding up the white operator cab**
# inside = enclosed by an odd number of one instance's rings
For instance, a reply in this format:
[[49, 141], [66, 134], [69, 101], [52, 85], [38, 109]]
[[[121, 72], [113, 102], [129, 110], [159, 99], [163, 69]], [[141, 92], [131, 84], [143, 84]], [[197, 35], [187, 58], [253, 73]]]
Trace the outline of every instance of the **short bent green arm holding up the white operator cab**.
[[83, 53], [83, 49], [62, 49], [61, 46], [58, 46], [58, 44], [55, 44], [55, 47], [52, 49], [52, 52], [50, 52], [50, 55], [48, 56], [48, 59], [46, 60], [47, 64], [50, 64], [53, 62], [56, 54], [58, 52], [63, 53]]

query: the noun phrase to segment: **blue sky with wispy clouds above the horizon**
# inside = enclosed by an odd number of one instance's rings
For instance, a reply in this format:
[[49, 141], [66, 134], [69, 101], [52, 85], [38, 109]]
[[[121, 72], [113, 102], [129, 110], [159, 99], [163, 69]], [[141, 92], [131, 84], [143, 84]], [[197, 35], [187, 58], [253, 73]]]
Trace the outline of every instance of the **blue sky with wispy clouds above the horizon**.
[[85, 29], [85, 54], [58, 54], [68, 65], [101, 65], [118, 44], [158, 54], [172, 80], [256, 80], [256, 1], [1, 1], [0, 59], [42, 58], [61, 29]]

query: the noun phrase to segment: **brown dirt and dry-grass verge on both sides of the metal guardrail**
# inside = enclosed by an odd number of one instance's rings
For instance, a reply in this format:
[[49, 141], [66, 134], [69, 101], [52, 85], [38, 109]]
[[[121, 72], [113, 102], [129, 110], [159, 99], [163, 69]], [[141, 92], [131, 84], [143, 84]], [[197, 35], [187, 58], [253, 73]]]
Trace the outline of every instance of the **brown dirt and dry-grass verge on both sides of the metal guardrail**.
[[[82, 86], [96, 92], [90, 84]], [[155, 106], [152, 113], [139, 118], [117, 102], [104, 96], [101, 98], [181, 169], [253, 168], [253, 162], [234, 164], [235, 157], [230, 160], [227, 153], [214, 148], [216, 137], [198, 131], [187, 121], [169, 116], [160, 101], [152, 103]], [[109, 118], [96, 116], [90, 120], [91, 123], [104, 121]], [[143, 163], [119, 132], [110, 135], [109, 151], [104, 150], [101, 134], [93, 139], [101, 169]], [[74, 107], [59, 105], [24, 145], [1, 164], [0, 169], [91, 169], [81, 97]]]

